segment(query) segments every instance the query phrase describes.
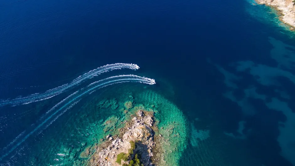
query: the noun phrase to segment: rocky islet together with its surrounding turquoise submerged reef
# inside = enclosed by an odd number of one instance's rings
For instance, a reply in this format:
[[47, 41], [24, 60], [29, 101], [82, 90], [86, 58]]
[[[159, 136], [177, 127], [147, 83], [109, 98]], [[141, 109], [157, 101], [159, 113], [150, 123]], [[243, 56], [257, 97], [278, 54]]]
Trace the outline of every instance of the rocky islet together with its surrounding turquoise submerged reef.
[[[151, 95], [156, 98], [148, 100]], [[98, 102], [100, 108], [119, 107], [122, 117], [108, 117], [99, 126], [105, 136], [85, 147], [74, 165], [179, 165], [187, 144], [184, 116], [173, 103], [153, 91], [146, 90], [135, 98], [137, 100], [129, 95], [126, 101], [104, 99]], [[136, 102], [143, 100], [144, 104]]]

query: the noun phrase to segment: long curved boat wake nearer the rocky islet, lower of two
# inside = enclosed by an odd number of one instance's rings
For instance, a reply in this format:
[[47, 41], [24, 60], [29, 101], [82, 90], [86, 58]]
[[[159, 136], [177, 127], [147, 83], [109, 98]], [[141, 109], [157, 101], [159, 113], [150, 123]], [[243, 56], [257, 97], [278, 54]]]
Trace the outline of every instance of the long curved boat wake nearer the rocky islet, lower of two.
[[18, 137], [16, 137], [13, 140], [13, 142], [10, 143], [7, 147], [12, 146], [16, 140], [18, 140], [18, 139], [21, 139], [21, 140], [17, 144], [15, 144], [6, 154], [2, 155], [0, 157], [0, 161], [4, 157], [6, 157], [9, 153], [13, 152], [13, 150], [15, 150], [21, 143], [23, 143], [30, 135], [32, 135], [34, 132], [39, 130], [44, 124], [46, 124], [46, 122], [48, 122], [50, 119], [52, 119], [54, 115], [56, 115], [58, 112], [63, 110], [60, 114], [58, 114], [55, 118], [53, 118], [53, 120], [51, 120], [49, 123], [47, 123], [46, 127], [40, 129], [39, 133], [42, 132], [44, 129], [46, 129], [58, 117], [60, 117], [68, 109], [70, 109], [72, 106], [74, 106], [76, 103], [78, 103], [81, 100], [82, 96], [84, 96], [86, 94], [90, 94], [93, 91], [96, 91], [96, 90], [98, 90], [100, 88], [103, 88], [105, 86], [118, 84], [118, 83], [123, 83], [123, 82], [140, 82], [140, 83], [145, 83], [145, 84], [149, 84], [149, 85], [153, 85], [153, 84], [156, 83], [154, 79], [141, 77], [141, 76], [137, 76], [137, 75], [117, 75], [117, 76], [112, 76], [112, 77], [108, 77], [108, 78], [103, 79], [103, 80], [93, 82], [90, 85], [88, 85], [87, 87], [82, 88], [82, 89], [74, 92], [73, 94], [71, 94], [70, 96], [65, 98], [64, 100], [57, 103], [54, 107], [52, 107], [48, 112], [46, 112], [46, 115], [48, 115], [52, 111], [55, 111], [55, 112], [53, 112], [51, 115], [49, 115], [34, 130], [32, 130], [31, 132], [26, 134], [25, 137], [23, 137], [22, 139], [20, 138], [23, 135], [23, 133], [21, 133]]

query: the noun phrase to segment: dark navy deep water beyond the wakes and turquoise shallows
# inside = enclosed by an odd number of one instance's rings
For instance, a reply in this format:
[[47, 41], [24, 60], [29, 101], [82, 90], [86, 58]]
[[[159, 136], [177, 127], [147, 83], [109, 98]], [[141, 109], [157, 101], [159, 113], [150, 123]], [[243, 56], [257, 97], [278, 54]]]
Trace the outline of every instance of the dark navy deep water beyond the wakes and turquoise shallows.
[[[207, 146], [219, 150], [216, 152], [221, 155], [219, 165], [291, 166], [292, 161], [282, 155], [277, 141], [279, 127], [284, 126], [281, 122], [286, 122], [288, 116], [283, 111], [270, 109], [266, 103], [279, 98], [294, 113], [295, 88], [290, 77], [295, 74], [295, 55], [285, 53], [291, 67], [280, 67], [291, 75], [274, 76], [272, 81], [276, 85], [270, 86], [259, 82], [264, 73], [271, 75], [266, 68], [260, 70], [262, 74], [252, 75], [253, 68], [239, 72], [235, 64], [250, 60], [255, 65], [276, 68], [278, 61], [271, 58], [274, 46], [269, 37], [288, 44], [285, 49], [294, 53], [294, 34], [269, 18], [257, 19], [249, 12], [254, 10], [258, 11], [257, 18], [269, 11], [263, 6], [252, 6], [247, 0], [4, 0], [0, 2], [0, 99], [46, 91], [106, 64], [135, 63], [140, 66], [137, 75], [159, 80], [155, 85], [157, 90], [168, 89], [164, 82], [169, 82], [175, 92], [171, 100], [190, 123], [199, 130], [210, 129], [212, 136]], [[229, 87], [217, 66], [243, 79], [229, 79], [237, 86]], [[128, 72], [122, 70], [121, 73]], [[239, 106], [224, 96], [227, 91], [233, 91], [240, 101], [249, 87], [255, 87], [256, 92], [266, 98], [250, 95], [247, 102]], [[284, 99], [275, 90], [287, 93], [289, 98]], [[57, 96], [54, 100], [58, 102], [66, 96]], [[169, 98], [169, 94], [166, 97]], [[0, 136], [4, 140], [0, 148], [30, 128], [54, 106], [54, 100], [38, 112], [35, 105], [0, 107]], [[243, 113], [249, 103], [250, 109], [256, 110], [251, 116]], [[19, 120], [5, 120], [31, 108], [33, 111], [24, 117], [20, 115]], [[239, 135], [240, 121], [246, 122], [243, 130], [246, 139], [224, 134]], [[223, 137], [232, 141], [219, 143]], [[294, 151], [288, 153], [295, 154], [294, 145], [292, 141], [289, 143]], [[187, 148], [184, 156], [193, 150], [196, 149]], [[3, 150], [1, 155], [4, 153], [7, 151]], [[7, 164], [10, 156], [0, 164]], [[18, 164], [23, 164], [23, 160], [19, 160]], [[207, 165], [217, 165], [218, 161], [212, 156], [212, 163]], [[194, 156], [180, 160], [181, 165], [196, 163]]]

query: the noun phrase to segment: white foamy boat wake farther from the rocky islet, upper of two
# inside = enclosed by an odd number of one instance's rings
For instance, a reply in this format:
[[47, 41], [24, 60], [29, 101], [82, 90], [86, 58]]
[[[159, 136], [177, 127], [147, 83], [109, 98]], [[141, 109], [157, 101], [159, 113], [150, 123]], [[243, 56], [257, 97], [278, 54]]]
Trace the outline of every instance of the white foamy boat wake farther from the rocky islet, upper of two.
[[116, 69], [132, 69], [132, 70], [137, 70], [139, 69], [139, 66], [136, 64], [125, 64], [125, 63], [115, 63], [111, 65], [105, 65], [101, 66], [97, 69], [91, 70], [83, 75], [80, 75], [76, 79], [72, 80], [71, 83], [64, 84], [62, 86], [50, 89], [44, 93], [35, 93], [26, 97], [17, 97], [13, 100], [0, 100], [0, 106], [5, 106], [5, 105], [18, 105], [18, 104], [29, 104], [32, 102], [36, 101], [41, 101], [41, 100], [46, 100], [49, 99], [53, 96], [61, 94], [63, 91], [78, 85], [79, 83], [83, 82], [86, 79], [91, 79], [94, 76], [98, 76], [101, 73], [105, 73], [111, 70], [116, 70]]

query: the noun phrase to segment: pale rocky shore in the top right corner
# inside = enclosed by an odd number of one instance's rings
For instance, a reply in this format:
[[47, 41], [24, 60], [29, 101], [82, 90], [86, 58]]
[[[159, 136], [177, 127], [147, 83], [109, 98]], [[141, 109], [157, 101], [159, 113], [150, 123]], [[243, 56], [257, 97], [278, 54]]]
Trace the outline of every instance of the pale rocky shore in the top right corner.
[[[280, 19], [282, 22], [295, 27], [295, 6], [293, 0], [256, 0], [259, 4], [265, 4], [276, 8], [276, 10], [282, 13]], [[290, 28], [293, 30], [293, 28]]]

